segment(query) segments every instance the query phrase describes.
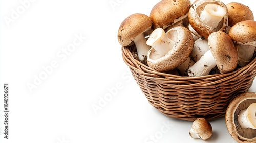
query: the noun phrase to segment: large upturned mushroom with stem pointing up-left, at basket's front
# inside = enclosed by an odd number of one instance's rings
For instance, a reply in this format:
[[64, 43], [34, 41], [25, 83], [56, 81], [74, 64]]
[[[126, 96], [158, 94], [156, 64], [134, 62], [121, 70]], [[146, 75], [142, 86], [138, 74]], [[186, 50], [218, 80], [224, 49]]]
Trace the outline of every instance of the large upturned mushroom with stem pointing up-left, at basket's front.
[[147, 64], [158, 71], [169, 71], [184, 63], [193, 49], [193, 36], [182, 26], [177, 26], [165, 34], [162, 28], [153, 31], [147, 40], [152, 48], [147, 54]]

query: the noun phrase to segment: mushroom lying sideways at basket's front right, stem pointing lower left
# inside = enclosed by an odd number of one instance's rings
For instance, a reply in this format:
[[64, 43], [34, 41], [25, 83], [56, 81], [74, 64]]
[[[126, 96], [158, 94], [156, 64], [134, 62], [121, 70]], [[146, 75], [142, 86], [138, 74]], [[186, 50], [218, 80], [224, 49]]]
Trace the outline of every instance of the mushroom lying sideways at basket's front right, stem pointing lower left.
[[189, 77], [208, 75], [215, 66], [221, 74], [229, 73], [237, 67], [238, 56], [231, 38], [222, 31], [211, 33], [208, 37], [210, 50], [186, 71]]

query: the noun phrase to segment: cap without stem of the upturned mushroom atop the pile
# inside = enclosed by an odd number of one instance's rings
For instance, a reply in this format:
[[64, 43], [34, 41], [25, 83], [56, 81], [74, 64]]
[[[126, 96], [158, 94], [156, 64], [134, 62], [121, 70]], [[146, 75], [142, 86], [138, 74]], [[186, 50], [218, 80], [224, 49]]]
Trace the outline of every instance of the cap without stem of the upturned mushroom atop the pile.
[[[226, 14], [219, 22], [219, 25], [215, 29], [211, 29], [204, 22], [200, 19], [200, 14], [204, 10], [204, 7], [207, 4], [217, 4], [225, 8]], [[188, 19], [191, 27], [197, 32], [194, 33], [195, 35], [200, 35], [202, 38], [207, 39], [208, 36], [215, 31], [223, 31], [226, 32], [227, 25], [228, 25], [228, 10], [226, 5], [219, 1], [219, 0], [198, 0], [193, 3], [189, 12], [188, 12]]]

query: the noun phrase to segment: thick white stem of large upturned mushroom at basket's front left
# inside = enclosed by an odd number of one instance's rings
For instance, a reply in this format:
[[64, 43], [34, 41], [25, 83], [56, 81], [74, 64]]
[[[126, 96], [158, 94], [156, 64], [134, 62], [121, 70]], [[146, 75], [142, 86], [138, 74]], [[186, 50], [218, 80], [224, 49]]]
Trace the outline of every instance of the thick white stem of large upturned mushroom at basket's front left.
[[157, 28], [151, 33], [146, 44], [152, 46], [160, 56], [164, 56], [172, 50], [175, 42], [166, 36], [162, 28]]

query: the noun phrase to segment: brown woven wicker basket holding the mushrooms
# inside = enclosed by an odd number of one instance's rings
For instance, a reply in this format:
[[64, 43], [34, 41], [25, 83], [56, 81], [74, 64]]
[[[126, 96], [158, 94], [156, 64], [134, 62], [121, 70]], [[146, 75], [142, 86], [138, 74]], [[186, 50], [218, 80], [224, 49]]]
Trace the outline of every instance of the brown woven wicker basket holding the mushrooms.
[[148, 102], [173, 118], [194, 121], [225, 116], [229, 102], [247, 92], [256, 75], [256, 58], [247, 66], [228, 74], [184, 77], [156, 71], [134, 59], [136, 47], [122, 47], [124, 62]]

